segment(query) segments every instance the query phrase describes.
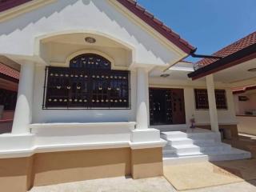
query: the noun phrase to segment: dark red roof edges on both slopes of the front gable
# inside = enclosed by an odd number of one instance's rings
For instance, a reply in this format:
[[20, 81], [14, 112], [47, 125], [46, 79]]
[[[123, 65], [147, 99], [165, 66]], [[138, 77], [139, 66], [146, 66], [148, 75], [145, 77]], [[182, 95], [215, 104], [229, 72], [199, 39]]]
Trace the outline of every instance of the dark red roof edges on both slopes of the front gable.
[[[32, 0], [0, 0], [0, 12], [3, 10], [8, 10], [14, 6], [19, 6], [25, 2], [30, 2]], [[186, 42], [168, 26], [164, 25], [163, 22], [155, 18], [153, 14], [150, 14], [145, 8], [138, 5], [135, 0], [117, 0], [122, 6], [125, 6], [130, 12], [141, 18], [142, 21], [146, 22], [149, 26], [157, 30], [158, 33], [162, 34], [174, 45], [178, 46], [186, 54], [190, 54], [195, 51], [195, 47], [191, 46], [189, 42]]]

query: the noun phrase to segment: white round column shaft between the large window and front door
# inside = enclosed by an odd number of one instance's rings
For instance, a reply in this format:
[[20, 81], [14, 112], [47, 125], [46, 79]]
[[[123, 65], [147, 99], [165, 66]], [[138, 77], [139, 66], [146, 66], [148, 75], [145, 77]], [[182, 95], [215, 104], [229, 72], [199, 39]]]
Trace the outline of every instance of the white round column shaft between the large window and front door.
[[148, 73], [144, 68], [137, 70], [137, 116], [136, 116], [136, 129], [148, 129]]

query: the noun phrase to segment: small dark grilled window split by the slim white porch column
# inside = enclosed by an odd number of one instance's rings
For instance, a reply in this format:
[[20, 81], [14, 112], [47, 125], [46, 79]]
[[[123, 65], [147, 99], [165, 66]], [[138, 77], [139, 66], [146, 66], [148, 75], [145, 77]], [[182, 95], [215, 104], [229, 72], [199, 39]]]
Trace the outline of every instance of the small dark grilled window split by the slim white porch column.
[[[195, 106], [197, 110], [208, 110], [208, 95], [206, 89], [195, 89]], [[226, 90], [215, 90], [216, 106], [218, 110], [226, 110]]]

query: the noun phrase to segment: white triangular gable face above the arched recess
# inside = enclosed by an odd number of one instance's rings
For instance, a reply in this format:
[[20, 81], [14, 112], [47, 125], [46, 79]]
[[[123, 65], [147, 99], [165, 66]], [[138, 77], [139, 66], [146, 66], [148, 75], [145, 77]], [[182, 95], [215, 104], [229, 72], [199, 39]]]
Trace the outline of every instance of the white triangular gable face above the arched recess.
[[95, 0], [58, 0], [2, 22], [0, 54], [33, 56], [35, 38], [65, 32], [97, 32], [124, 42], [134, 48], [134, 62], [140, 64], [166, 65], [181, 57], [110, 1]]

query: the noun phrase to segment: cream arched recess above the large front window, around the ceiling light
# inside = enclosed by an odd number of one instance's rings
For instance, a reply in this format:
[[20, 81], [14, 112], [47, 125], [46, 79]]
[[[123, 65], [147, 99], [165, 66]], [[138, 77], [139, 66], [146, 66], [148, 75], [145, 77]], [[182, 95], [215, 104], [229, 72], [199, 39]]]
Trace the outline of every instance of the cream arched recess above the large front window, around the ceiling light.
[[[86, 38], [95, 42], [86, 42]], [[128, 67], [133, 54], [130, 47], [106, 36], [94, 33], [59, 34], [41, 41], [39, 55], [52, 66], [68, 66], [70, 58], [78, 54], [94, 53], [106, 57], [112, 67]], [[120, 68], [121, 69], [121, 68]]]

